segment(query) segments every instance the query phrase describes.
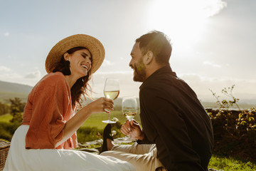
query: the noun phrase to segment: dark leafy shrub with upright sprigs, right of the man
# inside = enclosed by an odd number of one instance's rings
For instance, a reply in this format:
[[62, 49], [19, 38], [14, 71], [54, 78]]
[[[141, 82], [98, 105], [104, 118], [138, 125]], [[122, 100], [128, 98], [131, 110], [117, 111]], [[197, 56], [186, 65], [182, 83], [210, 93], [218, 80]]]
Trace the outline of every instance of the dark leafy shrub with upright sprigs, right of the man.
[[[206, 109], [213, 124], [213, 152], [219, 155], [240, 157], [256, 162], [256, 110], [240, 110], [238, 98], [233, 97], [233, 88], [224, 88], [222, 93], [232, 100], [222, 100], [213, 93], [218, 110]], [[236, 105], [238, 110], [229, 110]]]

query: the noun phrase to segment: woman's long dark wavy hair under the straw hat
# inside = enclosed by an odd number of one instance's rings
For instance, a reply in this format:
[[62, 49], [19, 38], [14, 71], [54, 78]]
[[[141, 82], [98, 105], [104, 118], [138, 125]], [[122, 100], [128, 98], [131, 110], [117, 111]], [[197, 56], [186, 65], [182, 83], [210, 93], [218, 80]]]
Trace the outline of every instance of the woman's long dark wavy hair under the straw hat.
[[[85, 47], [70, 48], [70, 50], [68, 50], [67, 53], [72, 54], [75, 51], [79, 51], [81, 49], [87, 49], [87, 48]], [[92, 62], [92, 58], [91, 58], [91, 62]], [[55, 63], [53, 73], [55, 72], [61, 72], [63, 73], [64, 76], [70, 75], [70, 66], [67, 66], [67, 62], [65, 61], [64, 54], [61, 57], [60, 62]], [[92, 70], [90, 69], [87, 73], [87, 76], [79, 78], [78, 81], [76, 81], [73, 87], [71, 88], [71, 100], [72, 100], [73, 106], [75, 105], [78, 105], [78, 107], [82, 106], [80, 103], [80, 100], [82, 100], [81, 95], [83, 95], [84, 97], [85, 95], [88, 95], [87, 91], [88, 90], [90, 91], [90, 85], [87, 84], [87, 82], [90, 81], [91, 75], [92, 75]]]

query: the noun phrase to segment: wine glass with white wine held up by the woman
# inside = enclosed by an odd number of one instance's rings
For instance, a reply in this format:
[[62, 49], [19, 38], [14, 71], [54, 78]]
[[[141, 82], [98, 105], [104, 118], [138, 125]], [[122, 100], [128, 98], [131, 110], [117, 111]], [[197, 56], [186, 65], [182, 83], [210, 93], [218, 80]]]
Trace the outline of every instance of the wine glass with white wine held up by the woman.
[[[119, 95], [119, 80], [115, 78], [107, 78], [104, 86], [105, 98], [115, 100]], [[102, 123], [116, 123], [110, 120], [110, 113], [108, 114], [108, 120], [102, 120]]]

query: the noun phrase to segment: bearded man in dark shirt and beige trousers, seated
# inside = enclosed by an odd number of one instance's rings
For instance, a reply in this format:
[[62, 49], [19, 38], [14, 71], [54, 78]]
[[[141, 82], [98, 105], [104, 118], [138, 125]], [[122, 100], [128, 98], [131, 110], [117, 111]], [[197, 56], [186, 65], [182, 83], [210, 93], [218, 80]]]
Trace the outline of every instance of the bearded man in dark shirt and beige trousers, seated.
[[206, 171], [213, 146], [210, 118], [196, 93], [171, 71], [171, 50], [169, 39], [160, 31], [137, 38], [129, 66], [134, 81], [143, 82], [139, 90], [143, 130], [135, 120], [127, 121], [122, 133], [131, 134], [137, 143], [122, 147], [107, 139], [107, 149], [115, 151], [102, 155], [127, 160], [137, 170], [164, 166], [171, 171]]

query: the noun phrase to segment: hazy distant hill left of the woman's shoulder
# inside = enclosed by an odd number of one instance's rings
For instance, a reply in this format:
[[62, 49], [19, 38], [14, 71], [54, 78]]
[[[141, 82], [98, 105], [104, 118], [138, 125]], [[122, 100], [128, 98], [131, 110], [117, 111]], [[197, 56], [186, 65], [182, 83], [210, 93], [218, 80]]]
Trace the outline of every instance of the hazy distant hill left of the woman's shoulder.
[[9, 98], [21, 98], [22, 102], [26, 102], [32, 88], [23, 84], [0, 81], [0, 102], [8, 103]]

